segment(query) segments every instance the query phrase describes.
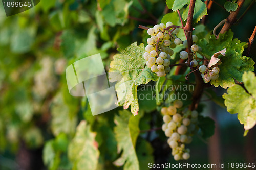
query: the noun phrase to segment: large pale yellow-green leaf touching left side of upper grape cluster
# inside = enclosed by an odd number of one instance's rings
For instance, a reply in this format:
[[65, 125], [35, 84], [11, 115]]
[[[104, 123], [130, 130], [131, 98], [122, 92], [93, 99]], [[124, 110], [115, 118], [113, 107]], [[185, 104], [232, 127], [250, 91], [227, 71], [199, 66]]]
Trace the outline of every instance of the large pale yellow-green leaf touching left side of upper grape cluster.
[[109, 81], [116, 81], [113, 73], [122, 74], [122, 80], [115, 85], [118, 97], [118, 105], [127, 109], [131, 105], [131, 112], [137, 115], [139, 104], [137, 87], [140, 84], [147, 84], [149, 81], [157, 81], [158, 76], [149, 68], [144, 68], [146, 61], [143, 58], [144, 45], [137, 46], [134, 42], [125, 50], [119, 49], [121, 54], [116, 54], [110, 63]]

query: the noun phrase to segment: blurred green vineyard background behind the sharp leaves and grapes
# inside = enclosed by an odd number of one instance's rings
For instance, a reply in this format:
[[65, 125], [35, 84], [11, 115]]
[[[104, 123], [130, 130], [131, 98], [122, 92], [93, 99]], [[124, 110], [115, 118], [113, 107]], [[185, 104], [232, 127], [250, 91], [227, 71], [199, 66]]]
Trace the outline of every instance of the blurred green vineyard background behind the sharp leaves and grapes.
[[[248, 42], [256, 23], [256, 5], [251, 2], [255, 1], [245, 1], [238, 16], [250, 9], [231, 28], [234, 38], [242, 42]], [[209, 32], [229, 15], [217, 4], [224, 6], [216, 0], [209, 15], [197, 23]], [[114, 115], [122, 107], [92, 116], [86, 98], [69, 94], [65, 69], [74, 61], [100, 53], [108, 71], [117, 48], [145, 42], [147, 34], [139, 25], [154, 26], [169, 12], [162, 0], [42, 0], [25, 12], [6, 17], [1, 3], [0, 169], [75, 169], [68, 145], [81, 120], [86, 120], [96, 135], [100, 151], [97, 169], [123, 169], [112, 163], [120, 156], [113, 128]], [[254, 43], [250, 51], [254, 61], [255, 54]], [[226, 91], [215, 90], [219, 96]], [[161, 127], [155, 101], [139, 102], [144, 114], [140, 130]], [[216, 120], [216, 133], [207, 140], [196, 135], [186, 162], [256, 163], [255, 127], [243, 137], [237, 115], [206, 96], [202, 103], [206, 106], [202, 114]], [[161, 130], [141, 132], [136, 153], [141, 169], [148, 169], [149, 162], [175, 163]]]

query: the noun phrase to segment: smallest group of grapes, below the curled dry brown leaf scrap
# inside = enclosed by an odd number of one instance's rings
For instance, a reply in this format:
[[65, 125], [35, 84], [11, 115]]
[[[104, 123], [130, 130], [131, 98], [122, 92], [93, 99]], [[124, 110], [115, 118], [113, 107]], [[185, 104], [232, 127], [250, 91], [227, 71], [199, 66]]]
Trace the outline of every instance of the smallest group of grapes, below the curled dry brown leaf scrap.
[[205, 65], [201, 65], [199, 67], [199, 71], [201, 72], [202, 78], [205, 83], [208, 83], [210, 80], [216, 80], [219, 78], [219, 67], [210, 67], [207, 68]]

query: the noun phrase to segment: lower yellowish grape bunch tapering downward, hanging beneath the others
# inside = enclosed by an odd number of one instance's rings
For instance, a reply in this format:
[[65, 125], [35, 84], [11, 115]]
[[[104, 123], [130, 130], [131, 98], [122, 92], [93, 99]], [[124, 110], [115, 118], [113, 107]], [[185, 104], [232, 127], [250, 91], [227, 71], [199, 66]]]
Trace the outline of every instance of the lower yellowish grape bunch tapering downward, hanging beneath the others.
[[190, 150], [185, 144], [192, 141], [192, 137], [198, 130], [198, 112], [182, 109], [182, 101], [176, 101], [173, 106], [163, 107], [162, 130], [168, 137], [168, 144], [172, 148], [172, 155], [176, 161], [187, 160]]

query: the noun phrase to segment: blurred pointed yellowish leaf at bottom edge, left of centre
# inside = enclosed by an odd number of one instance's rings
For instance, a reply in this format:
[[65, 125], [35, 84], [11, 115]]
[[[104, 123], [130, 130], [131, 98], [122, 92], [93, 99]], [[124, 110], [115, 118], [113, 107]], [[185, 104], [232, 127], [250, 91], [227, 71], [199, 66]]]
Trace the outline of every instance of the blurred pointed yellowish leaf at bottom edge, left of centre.
[[76, 134], [68, 148], [68, 156], [73, 162], [74, 170], [95, 170], [98, 164], [99, 151], [95, 141], [96, 134], [91, 132], [90, 125], [81, 121]]

